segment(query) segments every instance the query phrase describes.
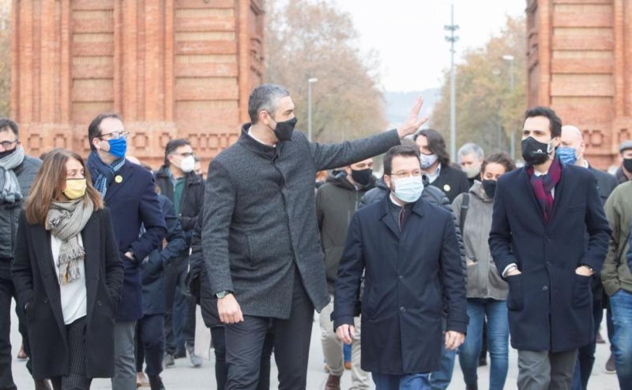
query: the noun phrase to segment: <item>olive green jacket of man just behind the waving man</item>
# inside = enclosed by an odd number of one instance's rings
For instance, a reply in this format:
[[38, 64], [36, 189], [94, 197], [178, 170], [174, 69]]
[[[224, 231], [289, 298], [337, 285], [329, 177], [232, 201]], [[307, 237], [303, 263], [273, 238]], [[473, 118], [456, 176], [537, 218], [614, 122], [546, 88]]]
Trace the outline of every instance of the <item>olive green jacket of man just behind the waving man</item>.
[[316, 193], [316, 216], [320, 229], [320, 241], [325, 253], [327, 290], [334, 293], [338, 265], [343, 255], [344, 243], [351, 217], [358, 209], [362, 196], [375, 185], [375, 180], [363, 188], [355, 188], [344, 171], [333, 171], [327, 183]]

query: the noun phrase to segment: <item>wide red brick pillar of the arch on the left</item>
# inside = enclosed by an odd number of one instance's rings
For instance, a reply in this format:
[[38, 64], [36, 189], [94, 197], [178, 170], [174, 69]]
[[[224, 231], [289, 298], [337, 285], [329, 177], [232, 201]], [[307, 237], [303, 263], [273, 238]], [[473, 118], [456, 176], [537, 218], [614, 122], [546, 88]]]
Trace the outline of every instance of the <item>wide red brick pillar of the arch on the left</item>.
[[123, 115], [154, 167], [189, 138], [204, 169], [248, 121], [262, 81], [262, 0], [13, 0], [11, 115], [28, 153], [87, 154], [88, 123]]

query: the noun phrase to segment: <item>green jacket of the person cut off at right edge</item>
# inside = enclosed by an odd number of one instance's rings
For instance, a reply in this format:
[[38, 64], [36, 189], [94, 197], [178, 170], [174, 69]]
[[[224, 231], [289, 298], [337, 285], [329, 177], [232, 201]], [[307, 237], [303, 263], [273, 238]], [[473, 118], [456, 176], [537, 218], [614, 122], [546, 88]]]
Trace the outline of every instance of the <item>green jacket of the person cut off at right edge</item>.
[[605, 292], [610, 296], [622, 288], [632, 292], [632, 273], [626, 264], [632, 223], [632, 181], [614, 189], [605, 202], [604, 211], [612, 228], [612, 237], [604, 267], [601, 270], [601, 281]]

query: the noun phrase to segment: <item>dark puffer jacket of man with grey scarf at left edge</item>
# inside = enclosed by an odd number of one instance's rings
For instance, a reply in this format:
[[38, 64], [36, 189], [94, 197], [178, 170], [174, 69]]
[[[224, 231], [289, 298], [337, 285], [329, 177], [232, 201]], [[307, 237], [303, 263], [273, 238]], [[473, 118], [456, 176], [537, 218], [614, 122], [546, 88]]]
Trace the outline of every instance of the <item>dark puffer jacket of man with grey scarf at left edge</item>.
[[18, 233], [20, 212], [24, 208], [27, 195], [41, 165], [42, 161], [40, 159], [25, 155], [24, 161], [13, 169], [15, 176], [18, 178], [23, 198], [15, 203], [0, 203], [0, 261], [13, 259], [13, 248], [15, 248], [15, 236]]

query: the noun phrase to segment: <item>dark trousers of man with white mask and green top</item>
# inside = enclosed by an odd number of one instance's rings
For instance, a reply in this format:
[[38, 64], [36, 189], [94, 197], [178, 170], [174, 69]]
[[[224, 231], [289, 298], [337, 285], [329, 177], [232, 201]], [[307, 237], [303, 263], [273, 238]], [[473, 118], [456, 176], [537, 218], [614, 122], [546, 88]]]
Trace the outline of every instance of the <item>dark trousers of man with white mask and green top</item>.
[[[166, 302], [167, 302], [167, 313], [164, 315], [164, 331], [165, 331], [165, 345], [166, 352], [171, 355], [175, 355], [177, 350], [176, 344], [176, 321], [174, 321], [174, 317], [176, 319], [181, 318], [179, 315], [174, 315], [176, 301], [176, 295], [179, 295], [179, 301], [182, 301], [181, 294], [183, 293], [183, 288], [178, 288], [178, 286], [184, 287], [185, 277], [186, 277], [186, 269], [188, 267], [188, 258], [187, 257], [178, 257], [176, 259], [172, 259], [171, 264], [167, 267], [164, 276], [164, 290], [166, 294]], [[183, 346], [182, 346], [183, 347]]]

